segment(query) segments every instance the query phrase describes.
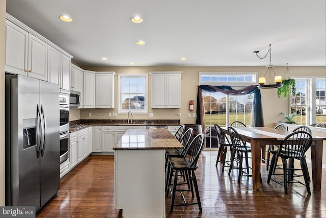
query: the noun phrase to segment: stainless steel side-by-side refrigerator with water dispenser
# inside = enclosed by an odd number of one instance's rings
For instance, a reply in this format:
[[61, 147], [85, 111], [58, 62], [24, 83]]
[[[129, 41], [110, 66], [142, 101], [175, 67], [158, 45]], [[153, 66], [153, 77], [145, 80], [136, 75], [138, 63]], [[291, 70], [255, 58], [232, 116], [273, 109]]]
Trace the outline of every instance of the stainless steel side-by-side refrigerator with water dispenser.
[[6, 75], [6, 206], [38, 211], [60, 188], [59, 86]]

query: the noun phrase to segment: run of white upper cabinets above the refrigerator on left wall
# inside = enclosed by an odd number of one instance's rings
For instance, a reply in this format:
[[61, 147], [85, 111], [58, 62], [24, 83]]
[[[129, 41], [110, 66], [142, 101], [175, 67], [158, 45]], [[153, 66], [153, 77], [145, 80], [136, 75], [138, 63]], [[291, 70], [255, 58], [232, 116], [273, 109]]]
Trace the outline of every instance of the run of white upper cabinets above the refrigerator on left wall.
[[6, 14], [6, 72], [59, 84], [70, 93], [72, 56], [22, 22]]

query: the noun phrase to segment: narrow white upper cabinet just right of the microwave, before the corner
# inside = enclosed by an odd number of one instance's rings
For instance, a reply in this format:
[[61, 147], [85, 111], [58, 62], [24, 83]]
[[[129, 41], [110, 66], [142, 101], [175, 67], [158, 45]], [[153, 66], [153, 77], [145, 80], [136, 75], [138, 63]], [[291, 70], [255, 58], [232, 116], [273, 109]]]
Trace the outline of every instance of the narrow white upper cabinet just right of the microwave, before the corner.
[[83, 108], [95, 108], [95, 72], [84, 71]]

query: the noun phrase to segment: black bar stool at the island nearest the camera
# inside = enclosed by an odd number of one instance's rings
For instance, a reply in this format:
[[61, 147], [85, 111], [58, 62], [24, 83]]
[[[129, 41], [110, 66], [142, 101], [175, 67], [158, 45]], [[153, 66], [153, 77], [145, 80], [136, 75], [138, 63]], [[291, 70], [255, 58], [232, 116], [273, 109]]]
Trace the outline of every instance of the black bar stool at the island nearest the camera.
[[[204, 146], [204, 134], [200, 133], [196, 135], [196, 137], [192, 140], [192, 142], [189, 144], [187, 151], [184, 155], [184, 157], [171, 157], [169, 159], [169, 167], [168, 167], [168, 178], [167, 178], [167, 192], [166, 192], [166, 197], [168, 197], [169, 192], [171, 193], [171, 208], [170, 208], [170, 213], [173, 212], [173, 207], [174, 206], [187, 206], [187, 205], [194, 205], [197, 204], [199, 207], [199, 211], [202, 212], [202, 206], [200, 202], [200, 196], [199, 196], [199, 189], [198, 189], [198, 183], [197, 183], [197, 178], [195, 175], [195, 171], [198, 168], [198, 158], [201, 154], [201, 151]], [[183, 189], [183, 188], [177, 188], [180, 183], [178, 183], [178, 173], [184, 172], [187, 183], [190, 184], [190, 188], [188, 189]], [[173, 176], [174, 174], [174, 176]], [[173, 187], [171, 188], [171, 181], [173, 179]], [[184, 184], [184, 183], [181, 183]], [[192, 198], [194, 198], [194, 189], [196, 192], [196, 199], [197, 202], [186, 202], [183, 191], [191, 191], [192, 193]], [[175, 196], [176, 196], [176, 191], [179, 191], [181, 193], [181, 197], [183, 200], [183, 203], [180, 204], [175, 204]]]

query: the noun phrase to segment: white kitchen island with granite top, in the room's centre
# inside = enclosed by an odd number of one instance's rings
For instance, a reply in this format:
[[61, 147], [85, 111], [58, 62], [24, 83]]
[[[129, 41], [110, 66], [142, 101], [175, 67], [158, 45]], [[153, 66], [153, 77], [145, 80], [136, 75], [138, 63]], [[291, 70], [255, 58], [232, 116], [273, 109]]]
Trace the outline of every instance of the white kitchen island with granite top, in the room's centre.
[[123, 217], [165, 217], [165, 149], [183, 149], [167, 129], [129, 129], [113, 148]]

